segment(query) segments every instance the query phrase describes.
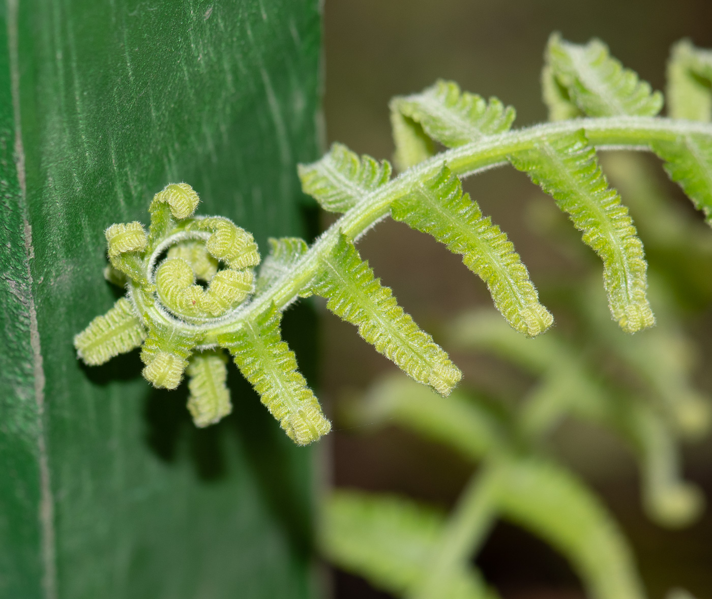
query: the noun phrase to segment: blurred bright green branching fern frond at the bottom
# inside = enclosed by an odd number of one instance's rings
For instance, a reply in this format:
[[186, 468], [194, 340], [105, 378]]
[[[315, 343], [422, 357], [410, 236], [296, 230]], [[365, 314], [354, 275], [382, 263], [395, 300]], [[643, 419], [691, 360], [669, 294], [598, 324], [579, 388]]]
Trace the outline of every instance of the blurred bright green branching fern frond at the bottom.
[[[466, 337], [472, 328], [454, 330]], [[531, 343], [505, 330], [520, 343]], [[392, 376], [371, 387], [348, 413], [350, 424], [397, 424], [483, 463], [448, 519], [412, 501], [337, 491], [325, 504], [320, 538], [340, 568], [407, 598], [496, 596], [471, 567], [471, 556], [501, 517], [555, 546], [593, 597], [644, 597], [627, 543], [595, 494], [559, 464], [523, 446], [518, 422], [503, 418], [481, 397], [455, 392], [437, 398]], [[451, 595], [450, 585], [463, 579], [466, 590]]]

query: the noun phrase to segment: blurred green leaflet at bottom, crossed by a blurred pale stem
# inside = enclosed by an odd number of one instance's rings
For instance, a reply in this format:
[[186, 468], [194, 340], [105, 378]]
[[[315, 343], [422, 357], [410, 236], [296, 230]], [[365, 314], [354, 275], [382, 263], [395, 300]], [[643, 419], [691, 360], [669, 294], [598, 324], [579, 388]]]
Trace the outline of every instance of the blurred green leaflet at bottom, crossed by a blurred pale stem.
[[[438, 512], [394, 496], [337, 491], [323, 510], [321, 545], [330, 561], [402, 596], [417, 592], [445, 527]], [[495, 599], [481, 576], [461, 568], [444, 580], [442, 599]]]

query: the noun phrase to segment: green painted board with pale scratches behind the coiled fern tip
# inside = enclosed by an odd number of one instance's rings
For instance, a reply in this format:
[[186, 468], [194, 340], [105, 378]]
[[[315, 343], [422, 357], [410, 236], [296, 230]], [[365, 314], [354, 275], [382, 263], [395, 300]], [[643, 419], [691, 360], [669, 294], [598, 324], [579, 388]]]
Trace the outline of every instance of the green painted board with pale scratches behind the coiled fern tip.
[[[137, 353], [85, 368], [72, 337], [119, 293], [103, 229], [147, 222], [168, 182], [261, 248], [304, 234], [318, 1], [7, 0], [0, 16], [0, 597], [309, 596], [313, 450], [234, 369], [234, 415], [197, 430]], [[308, 318], [286, 318], [307, 369]]]

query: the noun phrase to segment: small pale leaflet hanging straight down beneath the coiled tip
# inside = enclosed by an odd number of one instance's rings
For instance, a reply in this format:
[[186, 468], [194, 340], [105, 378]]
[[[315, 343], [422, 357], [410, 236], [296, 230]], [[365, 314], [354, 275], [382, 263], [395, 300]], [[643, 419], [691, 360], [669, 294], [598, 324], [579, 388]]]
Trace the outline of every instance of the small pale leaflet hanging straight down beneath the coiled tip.
[[188, 410], [199, 428], [215, 424], [232, 412], [230, 392], [225, 385], [226, 362], [223, 350], [206, 350], [189, 360], [185, 371], [189, 376]]

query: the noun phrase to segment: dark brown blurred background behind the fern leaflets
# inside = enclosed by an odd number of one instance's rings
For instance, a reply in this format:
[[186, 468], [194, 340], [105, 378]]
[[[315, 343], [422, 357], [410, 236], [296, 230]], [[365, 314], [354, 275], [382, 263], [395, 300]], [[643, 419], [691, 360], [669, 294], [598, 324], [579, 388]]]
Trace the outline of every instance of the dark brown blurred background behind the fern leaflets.
[[[515, 127], [543, 121], [547, 114], [539, 79], [552, 31], [576, 43], [601, 38], [613, 56], [663, 90], [672, 43], [689, 37], [696, 46], [712, 48], [712, 2], [327, 0], [327, 141], [343, 142], [379, 159], [391, 158], [389, 98], [422, 90], [437, 78], [456, 80], [464, 90], [484, 97], [496, 95], [513, 105]], [[686, 219], [701, 220], [666, 181], [656, 160], [649, 162], [675, 209]], [[541, 234], [539, 206], [553, 202], [525, 175], [510, 167], [493, 170], [468, 179], [465, 189], [484, 214], [508, 232], [543, 303], [565, 327], [567, 314], [560, 306], [566, 300], [554, 291], [557, 281], [585, 280], [595, 269], [600, 272], [600, 265], [588, 257], [580, 259], [556, 236]], [[327, 217], [322, 226], [330, 222]], [[646, 244], [645, 236], [642, 239]], [[359, 249], [376, 275], [393, 288], [399, 303], [436, 340], [449, 318], [468, 308], [491, 306], [486, 287], [465, 269], [459, 256], [404, 224], [379, 224], [377, 231], [360, 241]], [[681, 308], [686, 330], [698, 348], [694, 381], [708, 394], [712, 392], [709, 300], [703, 293]], [[471, 473], [471, 466], [458, 455], [395, 427], [371, 432], [340, 423], [340, 400], [364, 391], [395, 367], [363, 342], [352, 325], [326, 311], [322, 323], [320, 396], [335, 420], [335, 432], [328, 437], [333, 485], [394, 491], [450, 509]], [[521, 395], [533, 383], [486, 355], [451, 353], [451, 357], [468, 385]], [[616, 439], [571, 422], [557, 431], [553, 442], [560, 458], [600, 493], [618, 519], [632, 542], [651, 598], [661, 598], [675, 586], [687, 588], [698, 599], [712, 597], [712, 510], [689, 528], [660, 528], [642, 512], [637, 469]], [[686, 447], [684, 463], [686, 477], [703, 487], [711, 503], [711, 442]], [[583, 596], [567, 563], [514, 526], [496, 526], [477, 564], [505, 599]], [[332, 581], [339, 599], [389, 596], [340, 571], [334, 571]]]

